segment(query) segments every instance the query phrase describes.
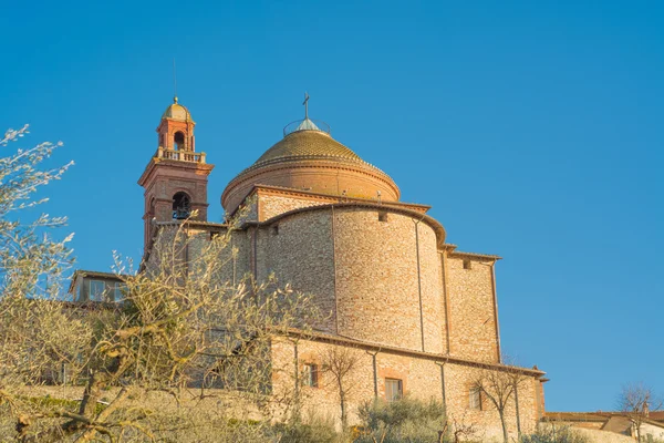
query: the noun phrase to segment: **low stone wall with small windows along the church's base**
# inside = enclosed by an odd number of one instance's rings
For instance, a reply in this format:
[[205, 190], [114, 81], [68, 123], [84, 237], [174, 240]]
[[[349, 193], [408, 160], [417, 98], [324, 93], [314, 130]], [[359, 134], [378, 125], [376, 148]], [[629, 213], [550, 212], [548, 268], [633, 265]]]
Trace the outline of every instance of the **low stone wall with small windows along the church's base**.
[[[287, 392], [294, 389], [294, 351], [295, 342], [279, 338], [272, 343], [272, 364], [276, 368], [273, 374], [274, 392]], [[321, 368], [324, 365], [325, 356], [340, 344], [299, 340], [297, 342], [298, 368], [301, 371], [303, 364], [315, 363]], [[372, 352], [364, 349], [350, 348], [351, 354], [357, 359], [355, 369], [351, 372], [345, 383], [352, 387], [347, 395], [349, 421], [357, 424], [359, 406], [374, 399], [374, 370], [372, 353], [375, 353], [377, 369], [377, 396], [385, 398], [385, 378], [400, 379], [403, 381], [404, 394], [421, 399], [443, 401], [443, 383], [440, 373], [440, 361], [396, 354], [394, 352]], [[445, 403], [448, 418], [463, 424], [476, 424], [476, 440], [488, 441], [502, 435], [502, 427], [498, 412], [488, 400], [483, 400], [483, 410], [469, 409], [469, 389], [473, 381], [478, 377], [481, 369], [459, 363], [447, 362], [444, 364]], [[533, 432], [539, 418], [536, 413], [535, 389], [539, 381], [533, 377], [525, 378], [519, 388], [519, 416], [521, 431]], [[322, 372], [319, 375], [319, 387], [303, 387], [303, 412], [315, 409], [318, 418], [332, 418], [336, 422], [341, 419], [338, 388], [332, 374]], [[283, 396], [283, 394], [281, 395]], [[506, 422], [510, 437], [517, 436], [517, 415], [513, 396], [506, 408]]]

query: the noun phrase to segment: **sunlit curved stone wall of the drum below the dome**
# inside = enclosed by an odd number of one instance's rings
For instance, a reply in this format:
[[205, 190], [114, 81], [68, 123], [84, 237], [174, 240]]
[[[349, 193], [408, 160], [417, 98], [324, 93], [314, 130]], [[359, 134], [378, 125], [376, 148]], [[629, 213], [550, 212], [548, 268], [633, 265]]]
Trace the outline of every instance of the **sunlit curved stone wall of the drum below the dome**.
[[444, 301], [436, 237], [428, 225], [416, 222], [390, 210], [335, 210], [340, 334], [443, 351]]

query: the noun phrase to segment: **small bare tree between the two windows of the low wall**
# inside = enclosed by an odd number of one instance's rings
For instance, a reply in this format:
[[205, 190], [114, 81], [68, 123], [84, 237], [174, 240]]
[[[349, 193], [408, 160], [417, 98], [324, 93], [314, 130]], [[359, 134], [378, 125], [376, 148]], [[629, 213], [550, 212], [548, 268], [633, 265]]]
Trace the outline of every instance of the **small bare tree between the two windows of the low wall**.
[[323, 372], [332, 375], [341, 408], [341, 426], [345, 430], [349, 424], [347, 400], [356, 385], [353, 375], [360, 364], [360, 354], [353, 348], [332, 347], [321, 353], [321, 361]]

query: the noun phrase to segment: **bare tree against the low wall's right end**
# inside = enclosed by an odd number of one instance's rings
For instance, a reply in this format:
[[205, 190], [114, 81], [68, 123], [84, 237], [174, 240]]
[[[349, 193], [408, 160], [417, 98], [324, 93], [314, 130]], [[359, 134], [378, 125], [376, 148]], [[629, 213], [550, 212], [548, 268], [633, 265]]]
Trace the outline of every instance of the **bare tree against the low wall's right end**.
[[[502, 361], [510, 361], [509, 358]], [[517, 424], [518, 416], [518, 389], [527, 378], [516, 365], [506, 365], [502, 368], [484, 367], [477, 372], [473, 381], [473, 387], [479, 390], [480, 394], [489, 401], [489, 404], [496, 409], [500, 416], [500, 425], [502, 426], [502, 440], [505, 443], [509, 441], [509, 432], [507, 427], [506, 411], [513, 402], [516, 411]], [[520, 433], [520, 426], [518, 425]]]

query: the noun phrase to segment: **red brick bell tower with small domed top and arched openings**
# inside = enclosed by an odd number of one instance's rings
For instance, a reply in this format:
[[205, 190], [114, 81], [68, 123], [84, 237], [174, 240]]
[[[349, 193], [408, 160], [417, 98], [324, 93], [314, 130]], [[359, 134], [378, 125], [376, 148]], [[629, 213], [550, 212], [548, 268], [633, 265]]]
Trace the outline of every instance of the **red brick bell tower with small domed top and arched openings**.
[[145, 188], [144, 248], [152, 243], [152, 220], [188, 218], [207, 220], [207, 181], [215, 167], [196, 152], [189, 110], [173, 99], [157, 127], [157, 151], [145, 167], [138, 184]]

